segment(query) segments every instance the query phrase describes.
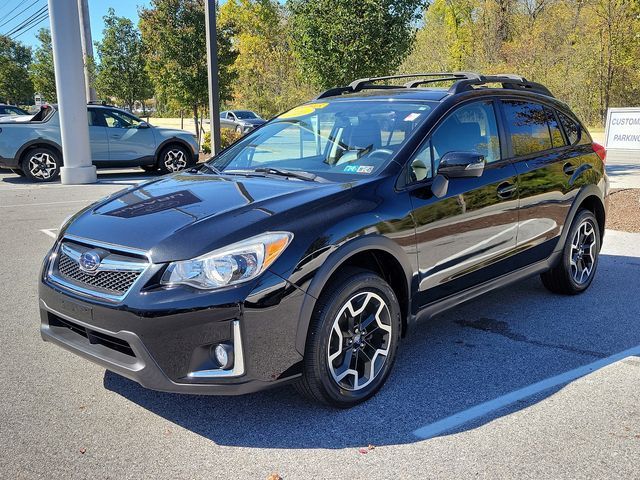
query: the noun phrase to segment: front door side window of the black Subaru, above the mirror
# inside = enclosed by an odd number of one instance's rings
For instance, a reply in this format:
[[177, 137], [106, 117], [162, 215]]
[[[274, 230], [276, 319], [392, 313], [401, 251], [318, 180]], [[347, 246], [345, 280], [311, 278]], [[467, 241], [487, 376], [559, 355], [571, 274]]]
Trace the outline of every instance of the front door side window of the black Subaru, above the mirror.
[[448, 152], [476, 152], [488, 163], [500, 160], [500, 140], [491, 102], [464, 105], [440, 124], [431, 136], [433, 168]]

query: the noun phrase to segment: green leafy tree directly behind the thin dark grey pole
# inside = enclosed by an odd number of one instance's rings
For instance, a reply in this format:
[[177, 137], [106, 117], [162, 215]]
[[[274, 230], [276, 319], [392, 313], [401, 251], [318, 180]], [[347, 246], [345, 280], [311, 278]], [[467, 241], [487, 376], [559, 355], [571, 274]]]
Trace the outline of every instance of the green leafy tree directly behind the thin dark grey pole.
[[[199, 135], [199, 109], [208, 104], [207, 50], [203, 0], [152, 0], [140, 11], [140, 30], [147, 53], [147, 69], [156, 92], [193, 112]], [[235, 60], [229, 32], [218, 32], [220, 100], [231, 98]]]

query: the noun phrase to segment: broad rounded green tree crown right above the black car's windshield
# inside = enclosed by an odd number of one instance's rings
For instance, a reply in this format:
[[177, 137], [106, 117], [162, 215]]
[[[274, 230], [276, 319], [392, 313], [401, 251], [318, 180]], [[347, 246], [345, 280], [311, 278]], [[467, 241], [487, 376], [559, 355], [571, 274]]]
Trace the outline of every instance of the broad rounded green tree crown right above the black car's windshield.
[[289, 0], [293, 47], [318, 86], [393, 73], [409, 52], [424, 0]]

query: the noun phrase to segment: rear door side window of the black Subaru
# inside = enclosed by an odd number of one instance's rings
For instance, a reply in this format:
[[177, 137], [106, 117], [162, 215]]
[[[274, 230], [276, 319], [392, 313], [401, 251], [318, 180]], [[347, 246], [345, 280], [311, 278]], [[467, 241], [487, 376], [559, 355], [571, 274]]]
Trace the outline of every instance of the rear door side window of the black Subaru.
[[547, 112], [542, 105], [513, 100], [502, 103], [516, 157], [548, 150], [553, 146]]

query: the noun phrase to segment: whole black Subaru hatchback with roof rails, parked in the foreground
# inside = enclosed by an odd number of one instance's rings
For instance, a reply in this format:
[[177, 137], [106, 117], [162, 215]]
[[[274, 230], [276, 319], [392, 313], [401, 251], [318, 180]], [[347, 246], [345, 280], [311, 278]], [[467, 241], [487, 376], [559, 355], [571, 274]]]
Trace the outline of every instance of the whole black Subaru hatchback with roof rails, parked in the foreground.
[[349, 407], [418, 320], [535, 274], [585, 291], [604, 160], [522, 77], [357, 80], [74, 215], [44, 262], [42, 337], [151, 389], [293, 382]]

